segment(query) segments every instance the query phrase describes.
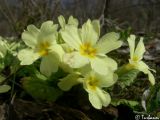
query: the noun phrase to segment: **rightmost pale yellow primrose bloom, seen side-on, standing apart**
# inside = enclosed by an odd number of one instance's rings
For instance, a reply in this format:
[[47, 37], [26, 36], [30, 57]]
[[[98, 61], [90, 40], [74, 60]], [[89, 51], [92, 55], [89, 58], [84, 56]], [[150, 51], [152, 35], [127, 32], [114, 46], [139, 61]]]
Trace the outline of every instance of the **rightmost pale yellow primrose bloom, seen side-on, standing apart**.
[[[139, 43], [137, 44], [137, 47], [135, 48], [135, 35], [130, 35], [128, 38], [128, 44], [130, 48], [130, 59], [129, 64], [127, 65], [128, 68], [134, 68], [139, 71], [142, 71], [144, 74], [148, 74], [149, 81], [152, 85], [155, 84], [155, 78], [153, 74], [150, 72], [150, 68], [148, 65], [146, 65], [142, 59], [143, 54], [145, 52], [145, 46], [143, 43], [143, 38], [140, 38]], [[154, 71], [154, 70], [152, 70]]]

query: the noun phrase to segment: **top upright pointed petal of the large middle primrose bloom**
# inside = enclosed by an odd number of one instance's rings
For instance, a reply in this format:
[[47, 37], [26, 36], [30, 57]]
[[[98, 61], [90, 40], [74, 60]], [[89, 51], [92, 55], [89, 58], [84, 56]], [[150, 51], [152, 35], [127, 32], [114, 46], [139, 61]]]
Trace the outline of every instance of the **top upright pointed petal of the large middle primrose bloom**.
[[81, 37], [83, 43], [91, 43], [91, 45], [96, 44], [99, 34], [97, 33], [97, 31], [95, 31], [90, 20], [83, 24]]

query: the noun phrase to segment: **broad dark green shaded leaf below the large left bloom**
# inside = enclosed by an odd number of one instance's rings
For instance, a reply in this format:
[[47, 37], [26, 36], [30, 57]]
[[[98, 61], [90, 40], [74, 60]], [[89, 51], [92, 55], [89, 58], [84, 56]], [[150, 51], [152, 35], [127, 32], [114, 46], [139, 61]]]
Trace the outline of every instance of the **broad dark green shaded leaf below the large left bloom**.
[[31, 77], [23, 79], [23, 87], [37, 100], [56, 101], [62, 94], [60, 89], [51, 86], [47, 81]]

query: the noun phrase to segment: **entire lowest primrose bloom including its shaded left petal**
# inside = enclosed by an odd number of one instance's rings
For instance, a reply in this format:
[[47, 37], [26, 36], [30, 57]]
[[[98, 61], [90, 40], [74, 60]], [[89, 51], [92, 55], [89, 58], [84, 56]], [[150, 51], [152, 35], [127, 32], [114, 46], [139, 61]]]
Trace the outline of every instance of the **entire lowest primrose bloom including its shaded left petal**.
[[108, 92], [102, 88], [112, 86], [116, 80], [117, 75], [110, 72], [108, 75], [101, 75], [93, 71], [84, 75], [83, 78], [78, 78], [78, 74], [70, 74], [66, 78], [62, 79], [58, 86], [67, 91], [71, 89], [73, 85], [78, 83], [83, 84], [83, 88], [88, 92], [89, 101], [96, 109], [101, 109], [102, 106], [106, 107], [111, 102], [111, 97]]

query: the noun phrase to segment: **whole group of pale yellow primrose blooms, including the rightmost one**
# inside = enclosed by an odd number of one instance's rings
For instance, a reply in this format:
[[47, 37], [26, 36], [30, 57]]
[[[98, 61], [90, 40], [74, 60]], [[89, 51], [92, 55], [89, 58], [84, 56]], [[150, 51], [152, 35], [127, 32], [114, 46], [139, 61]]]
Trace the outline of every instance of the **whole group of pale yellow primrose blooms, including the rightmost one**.
[[[20, 64], [31, 65], [41, 59], [40, 71], [47, 77], [62, 68], [68, 75], [59, 80], [60, 89], [68, 91], [72, 86], [82, 84], [93, 107], [101, 109], [108, 106], [111, 96], [104, 88], [116, 83], [118, 68], [117, 62], [107, 54], [121, 47], [120, 35], [110, 32], [101, 37], [98, 20], [87, 20], [82, 27], [72, 16], [68, 22], [63, 16], [58, 21], [60, 28], [53, 21], [44, 22], [40, 28], [34, 25], [27, 27], [22, 33], [27, 48], [17, 55]], [[143, 40], [140, 39], [136, 49], [134, 35], [128, 38], [128, 43], [131, 58], [126, 67], [148, 74], [151, 84], [154, 84], [149, 67], [142, 61], [145, 52]]]

